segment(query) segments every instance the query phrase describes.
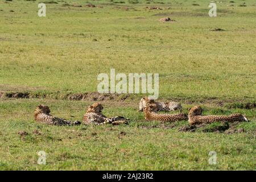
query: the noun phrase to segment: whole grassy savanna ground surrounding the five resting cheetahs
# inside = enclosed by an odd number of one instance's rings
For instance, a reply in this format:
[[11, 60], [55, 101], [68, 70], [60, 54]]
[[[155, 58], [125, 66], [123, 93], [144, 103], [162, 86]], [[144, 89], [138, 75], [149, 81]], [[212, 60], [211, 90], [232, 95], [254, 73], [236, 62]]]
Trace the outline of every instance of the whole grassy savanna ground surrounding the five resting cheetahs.
[[[209, 2], [0, 1], [0, 169], [255, 170], [256, 2], [222, 1], [216, 18]], [[167, 16], [175, 22], [159, 22]], [[159, 73], [159, 99], [181, 102], [186, 113], [201, 105], [204, 114], [242, 113], [250, 122], [146, 122], [137, 112], [142, 94], [95, 93], [97, 75], [110, 68]], [[39, 104], [81, 120], [94, 101], [130, 125], [34, 122]], [[46, 165], [37, 164], [39, 151]]]

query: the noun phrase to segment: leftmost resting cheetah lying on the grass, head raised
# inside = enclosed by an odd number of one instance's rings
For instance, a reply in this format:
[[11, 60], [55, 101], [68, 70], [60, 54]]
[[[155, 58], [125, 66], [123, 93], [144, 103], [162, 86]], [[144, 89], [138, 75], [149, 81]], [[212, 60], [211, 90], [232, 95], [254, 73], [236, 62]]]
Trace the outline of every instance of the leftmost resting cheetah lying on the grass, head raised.
[[48, 106], [44, 106], [44, 105], [39, 105], [36, 107], [35, 109], [35, 121], [39, 122], [39, 123], [45, 123], [48, 125], [80, 125], [81, 122], [80, 121], [68, 121], [66, 119], [61, 119], [61, 118], [57, 118], [52, 116], [51, 114], [51, 110], [49, 110]]

